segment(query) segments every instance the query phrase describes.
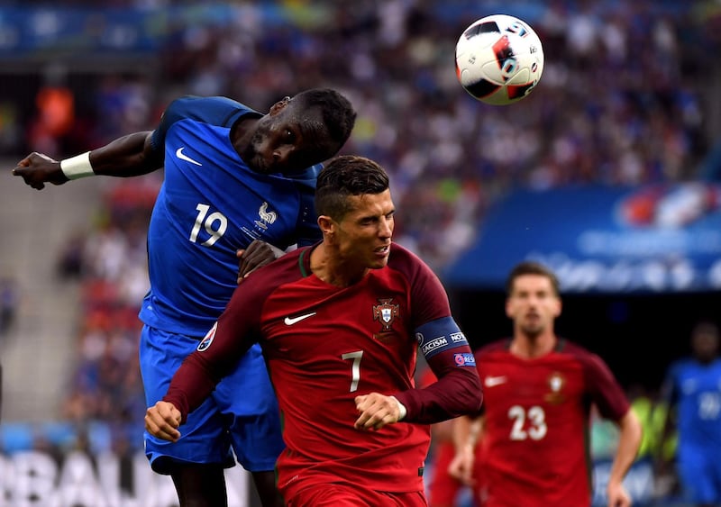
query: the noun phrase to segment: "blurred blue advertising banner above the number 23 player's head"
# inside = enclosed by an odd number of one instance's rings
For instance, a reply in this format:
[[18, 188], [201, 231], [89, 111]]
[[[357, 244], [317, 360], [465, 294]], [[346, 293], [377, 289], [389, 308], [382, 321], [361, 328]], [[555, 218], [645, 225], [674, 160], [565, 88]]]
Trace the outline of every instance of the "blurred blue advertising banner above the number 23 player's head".
[[551, 267], [566, 293], [721, 289], [721, 186], [519, 190], [488, 213], [450, 287], [502, 289], [522, 260]]

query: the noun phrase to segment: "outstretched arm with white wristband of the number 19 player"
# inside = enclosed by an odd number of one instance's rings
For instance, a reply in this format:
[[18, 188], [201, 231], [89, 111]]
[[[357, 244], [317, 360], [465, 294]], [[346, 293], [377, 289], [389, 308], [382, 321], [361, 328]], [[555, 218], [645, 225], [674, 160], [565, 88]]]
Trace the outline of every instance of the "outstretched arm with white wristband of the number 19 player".
[[163, 165], [162, 149], [153, 149], [151, 131], [135, 132], [113, 140], [102, 148], [76, 157], [55, 160], [33, 152], [18, 162], [14, 176], [37, 190], [46, 183], [62, 185], [71, 179], [94, 175], [135, 177], [151, 173]]

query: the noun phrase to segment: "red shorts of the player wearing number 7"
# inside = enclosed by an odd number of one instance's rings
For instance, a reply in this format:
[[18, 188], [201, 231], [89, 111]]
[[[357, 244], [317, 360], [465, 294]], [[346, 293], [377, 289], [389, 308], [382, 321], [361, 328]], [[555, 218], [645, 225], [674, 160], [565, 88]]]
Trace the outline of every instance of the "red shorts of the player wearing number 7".
[[287, 507], [427, 507], [422, 491], [387, 493], [353, 484], [317, 484], [286, 498]]

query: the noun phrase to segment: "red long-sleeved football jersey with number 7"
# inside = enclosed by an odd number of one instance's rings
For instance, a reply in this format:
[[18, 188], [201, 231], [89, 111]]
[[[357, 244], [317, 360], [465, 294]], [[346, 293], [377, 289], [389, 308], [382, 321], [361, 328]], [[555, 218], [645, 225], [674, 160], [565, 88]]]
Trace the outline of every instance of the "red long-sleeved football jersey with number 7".
[[[477, 400], [470, 410], [479, 408], [479, 377], [460, 331], [444, 331], [450, 350], [429, 359], [441, 381], [414, 389], [423, 338], [416, 330], [452, 322], [443, 285], [395, 244], [387, 267], [348, 287], [313, 275], [310, 252], [288, 253], [239, 285], [164, 399], [187, 413], [259, 341], [283, 421], [287, 448], [277, 469], [286, 498], [307, 486], [344, 481], [380, 491], [422, 491], [430, 434], [427, 424], [415, 422], [458, 415], [446, 411], [468, 406], [466, 400]], [[443, 337], [434, 334], [425, 349], [437, 349]], [[444, 385], [443, 376], [451, 382]], [[356, 430], [354, 399], [371, 392], [397, 395], [408, 410], [406, 420], [378, 431]]]

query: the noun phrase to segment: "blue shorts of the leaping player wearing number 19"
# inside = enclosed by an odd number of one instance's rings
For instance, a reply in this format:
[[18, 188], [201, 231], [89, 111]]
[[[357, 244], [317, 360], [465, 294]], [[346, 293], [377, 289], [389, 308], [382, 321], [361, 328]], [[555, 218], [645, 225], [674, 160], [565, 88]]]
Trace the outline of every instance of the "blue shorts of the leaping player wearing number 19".
[[[170, 380], [199, 340], [143, 326], [140, 366], [149, 407], [168, 392]], [[235, 465], [233, 453], [250, 472], [273, 470], [285, 447], [278, 402], [270, 385], [260, 345], [255, 344], [230, 376], [179, 428], [176, 443], [145, 432], [145, 454], [152, 469], [168, 475], [173, 462]]]

